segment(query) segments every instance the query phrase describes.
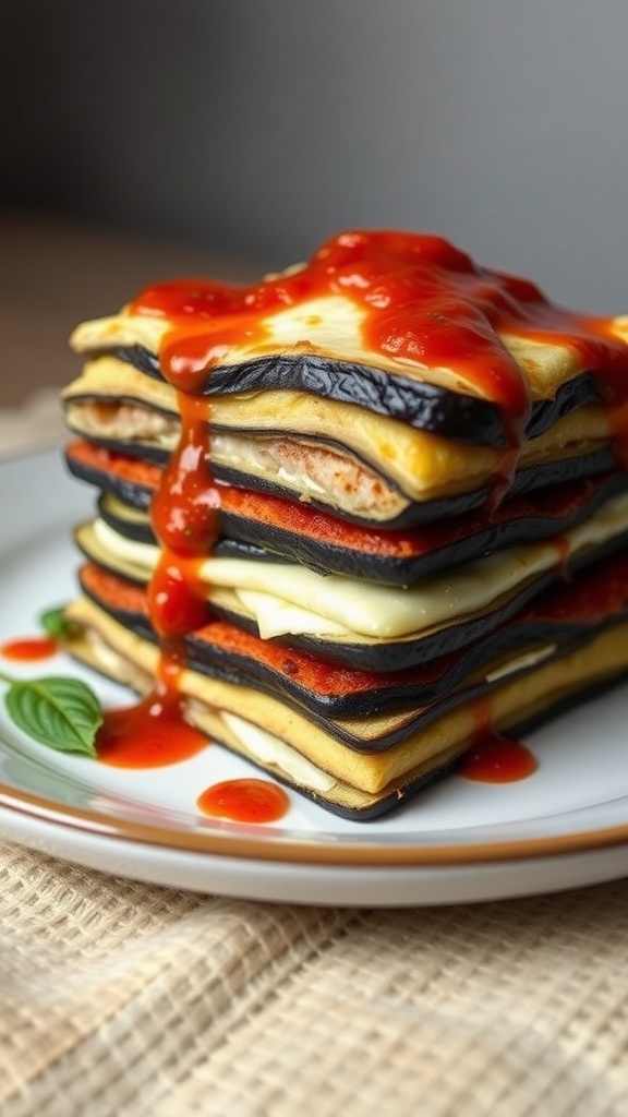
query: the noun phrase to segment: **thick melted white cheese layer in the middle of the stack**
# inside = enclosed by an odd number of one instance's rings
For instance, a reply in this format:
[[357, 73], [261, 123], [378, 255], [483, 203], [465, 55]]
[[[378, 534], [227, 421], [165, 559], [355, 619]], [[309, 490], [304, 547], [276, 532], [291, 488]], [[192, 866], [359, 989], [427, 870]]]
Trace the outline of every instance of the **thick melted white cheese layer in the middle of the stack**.
[[[103, 557], [132, 563], [150, 576], [159, 556], [155, 545], [126, 540], [101, 519], [94, 532]], [[266, 639], [288, 633], [396, 639], [487, 609], [526, 579], [622, 532], [628, 532], [628, 494], [608, 500], [556, 544], [511, 547], [407, 588], [248, 558], [207, 558], [196, 573], [208, 598], [213, 586], [239, 594]]]

